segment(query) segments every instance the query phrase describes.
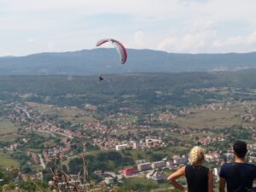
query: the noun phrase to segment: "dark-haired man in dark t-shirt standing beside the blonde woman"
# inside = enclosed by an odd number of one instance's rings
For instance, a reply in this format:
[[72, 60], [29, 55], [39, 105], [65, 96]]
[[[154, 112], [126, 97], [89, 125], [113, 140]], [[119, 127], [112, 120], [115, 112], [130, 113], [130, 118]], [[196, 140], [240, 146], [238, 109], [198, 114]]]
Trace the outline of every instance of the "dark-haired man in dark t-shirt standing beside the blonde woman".
[[247, 164], [247, 143], [236, 141], [233, 144], [235, 162], [225, 163], [219, 172], [219, 192], [224, 192], [227, 183], [228, 192], [247, 192], [253, 187], [253, 179], [256, 177], [256, 166]]

